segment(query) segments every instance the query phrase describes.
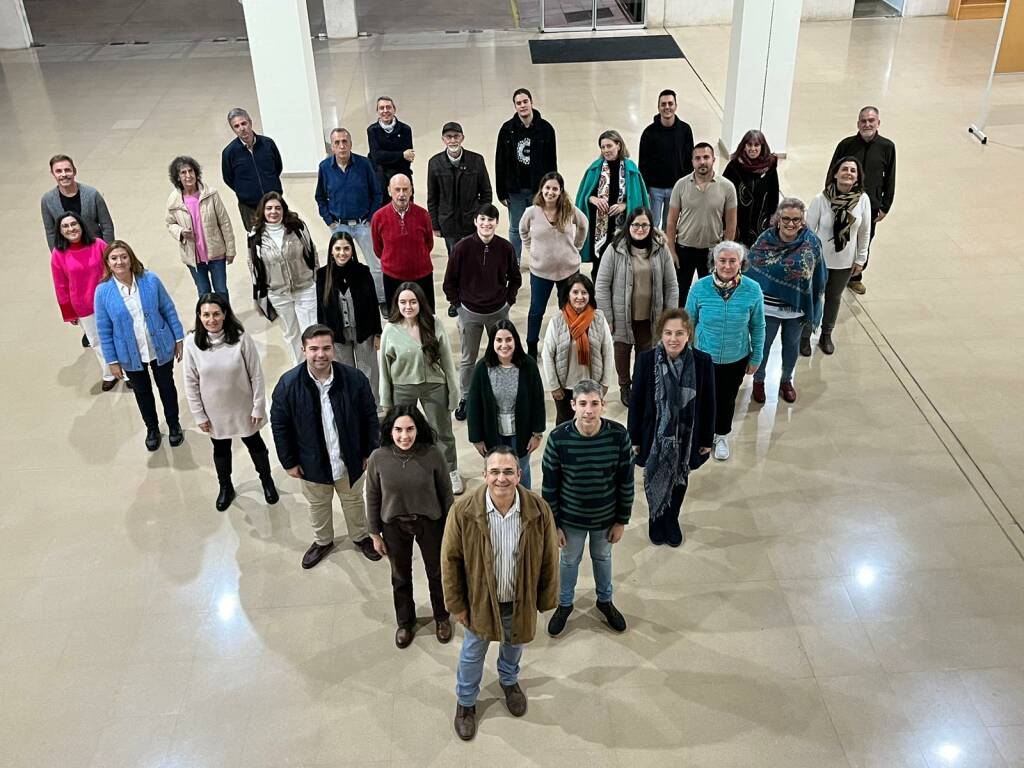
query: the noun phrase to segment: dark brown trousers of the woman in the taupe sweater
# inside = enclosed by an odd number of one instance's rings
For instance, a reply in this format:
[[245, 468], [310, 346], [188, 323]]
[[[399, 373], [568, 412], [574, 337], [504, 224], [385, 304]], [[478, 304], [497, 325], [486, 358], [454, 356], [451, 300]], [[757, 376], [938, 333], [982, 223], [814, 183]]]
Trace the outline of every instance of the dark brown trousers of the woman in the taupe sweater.
[[399, 627], [416, 626], [416, 601], [413, 599], [413, 540], [420, 545], [423, 569], [430, 586], [430, 607], [434, 620], [449, 617], [441, 588], [441, 537], [443, 520], [431, 520], [422, 515], [397, 517], [382, 526], [381, 535], [391, 563], [391, 590], [394, 592], [394, 613]]

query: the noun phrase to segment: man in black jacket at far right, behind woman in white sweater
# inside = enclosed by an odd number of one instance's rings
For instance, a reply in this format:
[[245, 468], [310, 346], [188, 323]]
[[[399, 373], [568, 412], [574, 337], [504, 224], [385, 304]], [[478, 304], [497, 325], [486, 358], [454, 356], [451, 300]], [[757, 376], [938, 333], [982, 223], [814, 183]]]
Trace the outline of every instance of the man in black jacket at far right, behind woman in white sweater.
[[[865, 106], [857, 115], [857, 132], [847, 136], [836, 145], [831, 162], [825, 172], [825, 185], [833, 180], [836, 163], [841, 158], [851, 157], [860, 161], [864, 169], [862, 181], [864, 191], [871, 201], [871, 239], [874, 238], [874, 227], [887, 215], [896, 197], [896, 144], [879, 133], [882, 119], [878, 106]], [[870, 254], [868, 254], [870, 258]], [[864, 264], [864, 269], [867, 264]], [[864, 294], [863, 270], [847, 285], [854, 293]]]

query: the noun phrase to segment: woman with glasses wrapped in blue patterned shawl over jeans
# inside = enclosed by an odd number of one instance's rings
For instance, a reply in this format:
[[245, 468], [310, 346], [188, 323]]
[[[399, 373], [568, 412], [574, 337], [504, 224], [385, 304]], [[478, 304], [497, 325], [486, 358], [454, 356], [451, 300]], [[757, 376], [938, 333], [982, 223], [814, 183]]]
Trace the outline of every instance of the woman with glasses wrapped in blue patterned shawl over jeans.
[[805, 225], [807, 207], [797, 198], [783, 198], [773, 225], [761, 232], [750, 253], [748, 276], [765, 296], [765, 343], [761, 366], [754, 374], [755, 402], [765, 401], [765, 368], [768, 352], [782, 331], [782, 376], [778, 393], [786, 402], [797, 401], [793, 369], [800, 352], [804, 324], [817, 328], [824, 307], [828, 270], [821, 256], [821, 241]]

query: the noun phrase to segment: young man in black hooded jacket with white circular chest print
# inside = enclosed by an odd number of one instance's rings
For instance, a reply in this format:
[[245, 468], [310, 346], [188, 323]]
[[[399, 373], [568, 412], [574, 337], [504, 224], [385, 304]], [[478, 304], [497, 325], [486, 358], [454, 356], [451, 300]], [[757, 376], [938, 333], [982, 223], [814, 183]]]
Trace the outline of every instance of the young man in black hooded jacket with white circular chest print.
[[509, 209], [509, 242], [516, 260], [522, 259], [519, 219], [534, 201], [545, 173], [558, 170], [555, 129], [534, 109], [534, 96], [525, 88], [512, 94], [515, 115], [498, 131], [495, 150], [495, 190]]

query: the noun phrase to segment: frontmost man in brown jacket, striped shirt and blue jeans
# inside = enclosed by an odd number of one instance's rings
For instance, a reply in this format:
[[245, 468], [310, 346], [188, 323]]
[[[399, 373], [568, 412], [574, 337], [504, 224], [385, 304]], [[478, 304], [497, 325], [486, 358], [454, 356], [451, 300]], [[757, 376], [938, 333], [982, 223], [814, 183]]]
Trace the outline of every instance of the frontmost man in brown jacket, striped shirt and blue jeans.
[[498, 680], [515, 717], [526, 714], [519, 687], [523, 645], [537, 632], [538, 611], [558, 601], [558, 542], [551, 508], [519, 487], [519, 462], [504, 445], [484, 459], [484, 487], [453, 505], [441, 545], [444, 605], [465, 628], [456, 674], [455, 731], [476, 735], [476, 697], [492, 642]]

